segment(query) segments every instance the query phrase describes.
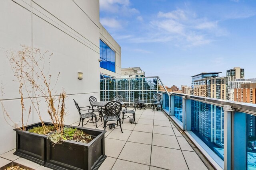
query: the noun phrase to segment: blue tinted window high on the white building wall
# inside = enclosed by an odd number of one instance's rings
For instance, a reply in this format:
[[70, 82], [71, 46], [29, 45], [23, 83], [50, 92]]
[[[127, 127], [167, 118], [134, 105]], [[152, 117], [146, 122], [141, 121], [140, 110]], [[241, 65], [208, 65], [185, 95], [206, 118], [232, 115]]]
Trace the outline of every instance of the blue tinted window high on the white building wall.
[[116, 53], [100, 40], [100, 67], [116, 72]]

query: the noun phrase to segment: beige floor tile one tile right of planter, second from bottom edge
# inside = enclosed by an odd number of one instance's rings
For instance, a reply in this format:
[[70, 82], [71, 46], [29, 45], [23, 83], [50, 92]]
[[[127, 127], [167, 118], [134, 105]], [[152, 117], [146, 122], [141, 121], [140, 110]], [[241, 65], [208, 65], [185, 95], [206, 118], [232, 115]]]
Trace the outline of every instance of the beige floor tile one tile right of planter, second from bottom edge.
[[119, 159], [150, 165], [151, 145], [127, 142]]

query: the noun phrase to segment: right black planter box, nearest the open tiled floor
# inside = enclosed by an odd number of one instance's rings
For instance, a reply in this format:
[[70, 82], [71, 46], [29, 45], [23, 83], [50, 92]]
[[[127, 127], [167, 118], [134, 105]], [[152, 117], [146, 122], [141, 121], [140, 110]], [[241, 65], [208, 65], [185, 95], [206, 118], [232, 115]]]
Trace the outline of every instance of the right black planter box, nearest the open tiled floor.
[[[74, 127], [74, 126], [69, 126]], [[90, 143], [63, 141], [55, 144], [47, 139], [47, 161], [44, 166], [54, 170], [97, 170], [106, 159], [106, 131], [74, 127], [95, 137]]]

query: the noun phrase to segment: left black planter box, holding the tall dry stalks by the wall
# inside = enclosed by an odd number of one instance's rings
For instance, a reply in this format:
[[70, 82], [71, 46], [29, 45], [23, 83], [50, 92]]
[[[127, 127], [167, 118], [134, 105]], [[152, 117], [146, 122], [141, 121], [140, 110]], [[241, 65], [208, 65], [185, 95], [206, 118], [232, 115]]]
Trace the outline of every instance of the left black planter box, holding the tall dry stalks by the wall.
[[[45, 125], [52, 125], [44, 122]], [[16, 151], [15, 155], [44, 165], [46, 162], [46, 136], [37, 133], [30, 133], [27, 130], [33, 127], [42, 126], [42, 123], [34, 123], [26, 127], [26, 131], [14, 129], [16, 131]]]

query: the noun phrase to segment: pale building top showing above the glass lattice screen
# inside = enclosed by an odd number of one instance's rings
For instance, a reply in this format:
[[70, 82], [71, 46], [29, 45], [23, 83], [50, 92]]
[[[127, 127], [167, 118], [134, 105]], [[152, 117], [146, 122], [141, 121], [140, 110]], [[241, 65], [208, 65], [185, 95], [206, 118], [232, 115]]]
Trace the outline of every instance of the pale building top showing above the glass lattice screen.
[[121, 68], [122, 78], [145, 77], [145, 72], [140, 67]]

